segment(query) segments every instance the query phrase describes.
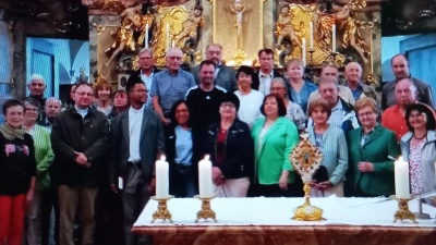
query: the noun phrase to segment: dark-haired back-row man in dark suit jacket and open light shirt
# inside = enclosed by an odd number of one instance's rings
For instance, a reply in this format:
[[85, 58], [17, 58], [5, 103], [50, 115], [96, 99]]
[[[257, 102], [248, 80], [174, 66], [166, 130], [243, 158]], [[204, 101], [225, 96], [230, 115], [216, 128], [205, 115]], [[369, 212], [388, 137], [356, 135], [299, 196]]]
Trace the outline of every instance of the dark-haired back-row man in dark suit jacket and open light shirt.
[[274, 77], [281, 77], [284, 79], [284, 77], [274, 70], [274, 51], [271, 49], [261, 49], [257, 52], [257, 57], [261, 68], [259, 71], [253, 75], [252, 88], [267, 96], [269, 95], [271, 79]]

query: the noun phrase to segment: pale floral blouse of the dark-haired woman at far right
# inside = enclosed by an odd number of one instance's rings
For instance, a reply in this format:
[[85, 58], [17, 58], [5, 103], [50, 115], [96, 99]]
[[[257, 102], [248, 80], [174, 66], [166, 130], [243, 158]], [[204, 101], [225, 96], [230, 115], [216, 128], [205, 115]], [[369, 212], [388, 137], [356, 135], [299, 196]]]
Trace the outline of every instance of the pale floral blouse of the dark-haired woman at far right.
[[421, 150], [425, 142], [420, 145], [410, 145], [409, 155], [409, 171], [410, 171], [410, 186], [412, 194], [422, 193], [424, 191], [423, 174], [421, 168]]

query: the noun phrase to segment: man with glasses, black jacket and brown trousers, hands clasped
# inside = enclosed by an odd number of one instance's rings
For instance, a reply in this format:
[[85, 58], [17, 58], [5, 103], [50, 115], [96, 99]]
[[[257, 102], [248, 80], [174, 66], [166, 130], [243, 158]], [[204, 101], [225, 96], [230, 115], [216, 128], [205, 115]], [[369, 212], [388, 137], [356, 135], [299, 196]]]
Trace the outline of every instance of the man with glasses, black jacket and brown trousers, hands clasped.
[[90, 107], [93, 87], [78, 83], [73, 108], [60, 112], [52, 124], [55, 152], [51, 183], [58, 187], [60, 244], [73, 245], [73, 223], [78, 210], [82, 244], [93, 244], [94, 206], [100, 174], [109, 146], [109, 122], [102, 112]]

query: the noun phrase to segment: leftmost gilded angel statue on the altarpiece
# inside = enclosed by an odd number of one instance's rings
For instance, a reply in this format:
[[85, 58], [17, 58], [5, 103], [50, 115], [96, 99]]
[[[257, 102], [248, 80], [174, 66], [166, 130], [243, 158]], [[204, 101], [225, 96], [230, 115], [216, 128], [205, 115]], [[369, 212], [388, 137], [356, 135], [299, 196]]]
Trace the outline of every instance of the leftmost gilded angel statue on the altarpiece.
[[111, 54], [106, 66], [122, 51], [136, 52], [138, 46], [141, 47], [144, 44], [145, 26], [150, 25], [149, 22], [153, 21], [142, 14], [142, 4], [123, 10], [119, 16], [122, 19], [120, 27], [110, 33], [116, 41], [109, 49], [105, 50], [105, 53]]

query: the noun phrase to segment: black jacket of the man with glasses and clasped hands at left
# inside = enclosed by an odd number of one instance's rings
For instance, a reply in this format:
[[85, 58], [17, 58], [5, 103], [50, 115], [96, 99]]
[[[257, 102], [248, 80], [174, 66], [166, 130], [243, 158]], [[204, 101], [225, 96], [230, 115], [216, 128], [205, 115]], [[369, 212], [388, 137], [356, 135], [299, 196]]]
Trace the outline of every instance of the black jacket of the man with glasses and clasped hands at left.
[[[106, 164], [105, 155], [109, 149], [107, 117], [89, 107], [83, 119], [75, 108], [68, 109], [55, 118], [50, 138], [55, 152], [55, 185], [98, 187], [101, 168]], [[75, 161], [75, 152], [86, 156], [89, 168]]]

